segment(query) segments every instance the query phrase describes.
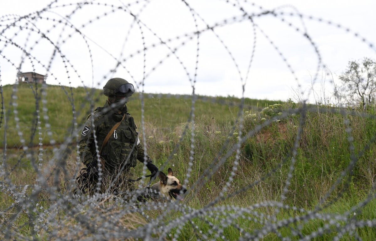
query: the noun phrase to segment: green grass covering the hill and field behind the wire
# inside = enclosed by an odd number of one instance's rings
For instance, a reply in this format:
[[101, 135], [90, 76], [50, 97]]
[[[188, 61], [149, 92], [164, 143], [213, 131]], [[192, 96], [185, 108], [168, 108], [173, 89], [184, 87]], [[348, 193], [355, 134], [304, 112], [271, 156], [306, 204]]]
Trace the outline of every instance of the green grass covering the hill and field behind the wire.
[[[34, 86], [35, 88], [35, 86]], [[40, 86], [38, 86], [40, 91]], [[77, 111], [76, 120], [78, 125], [85, 121], [90, 110], [97, 106], [102, 106], [105, 97], [101, 95], [99, 90], [94, 90], [93, 94], [89, 94], [96, 102], [90, 105], [86, 100], [88, 96], [85, 89], [64, 87], [68, 95], [64, 93], [61, 86], [47, 86], [47, 114], [49, 116], [48, 123], [51, 128], [46, 127], [46, 121], [41, 118], [41, 132], [43, 145], [50, 144], [50, 136], [56, 141], [56, 146], [65, 141], [72, 132], [79, 133], [79, 127], [75, 127], [72, 114], [72, 105], [69, 100], [71, 92], [73, 93], [74, 106]], [[88, 90], [90, 91], [90, 90]], [[14, 108], [9, 107], [11, 100], [12, 86], [3, 86], [5, 98], [5, 111], [7, 117], [7, 159], [8, 171], [12, 168], [9, 178], [16, 185], [32, 184], [36, 174], [33, 171], [33, 164], [30, 160], [42, 158], [39, 162], [43, 166], [47, 166], [47, 161], [53, 156], [51, 147], [43, 146], [43, 150], [39, 151], [37, 146], [39, 140], [38, 131], [35, 138], [30, 139], [35, 128], [35, 99], [30, 87], [23, 85], [18, 86], [17, 90], [17, 111], [20, 118], [19, 126], [22, 136], [26, 141], [26, 145], [31, 143], [30, 149], [26, 153], [22, 151], [22, 143], [20, 136], [15, 128]], [[38, 92], [40, 93], [40, 92]], [[68, 98], [69, 96], [69, 98]], [[165, 169], [173, 168], [175, 176], [183, 182], [185, 174], [188, 170], [188, 161], [191, 150], [191, 124], [188, 123], [189, 113], [191, 111], [191, 99], [176, 98], [171, 95], [160, 95], [150, 98], [144, 95], [144, 135], [142, 140], [147, 143], [147, 152], [152, 157], [154, 163], [161, 167], [167, 161]], [[206, 98], [206, 100], [205, 100]], [[212, 163], [218, 163], [225, 154], [232, 149], [237, 142], [237, 134], [240, 131], [248, 133], [258, 124], [277, 117], [280, 112], [284, 112], [288, 108], [299, 108], [299, 103], [288, 102], [272, 102], [267, 100], [245, 100], [247, 108], [244, 111], [243, 129], [240, 130], [238, 125], [235, 126], [235, 133], [232, 133], [234, 124], [237, 123], [237, 113], [239, 111], [237, 105], [240, 100], [233, 97], [217, 97], [213, 103], [208, 97], [200, 97], [195, 104], [195, 126], [194, 126], [194, 154], [191, 177], [188, 180], [187, 187], [190, 191], [196, 193], [194, 196], [188, 194], [186, 196], [186, 205], [194, 209], [200, 209], [212, 202], [220, 192], [230, 176], [230, 172], [235, 161], [235, 152], [229, 157], [224, 158], [223, 164], [215, 170], [212, 175], [206, 175], [200, 185], [193, 188], [198, 177], [203, 174]], [[41, 102], [40, 102], [41, 103]], [[280, 104], [280, 105], [274, 105]], [[127, 105], [130, 114], [135, 118], [136, 125], [141, 131], [141, 100], [138, 94], [132, 96]], [[264, 109], [264, 107], [268, 107]], [[312, 106], [316, 107], [316, 106]], [[333, 108], [334, 109], [334, 108]], [[343, 116], [339, 109], [337, 112], [328, 111], [309, 111], [304, 124], [302, 135], [300, 136], [297, 153], [295, 156], [296, 163], [292, 171], [293, 178], [286, 193], [284, 204], [288, 206], [296, 206], [306, 210], [314, 210], [320, 203], [320, 200], [327, 195], [323, 205], [319, 205], [322, 209], [320, 213], [325, 214], [343, 214], [349, 211], [352, 206], [365, 199], [371, 192], [372, 186], [376, 179], [376, 146], [371, 143], [369, 148], [364, 149], [365, 145], [376, 133], [376, 123], [373, 118], [364, 118], [360, 115]], [[247, 111], [247, 112], [246, 112]], [[374, 114], [374, 109], [368, 110], [369, 114]], [[280, 121], [274, 121], [270, 125], [259, 130], [255, 135], [248, 138], [240, 149], [240, 159], [233, 182], [230, 183], [225, 195], [229, 195], [235, 191], [249, 186], [251, 183], [257, 182], [251, 188], [245, 190], [241, 194], [228, 199], [221, 200], [215, 206], [234, 205], [238, 207], [249, 207], [256, 203], [269, 201], [280, 201], [285, 181], [288, 179], [288, 172], [291, 165], [291, 150], [296, 140], [300, 114], [289, 115]], [[329, 192], [337, 179], [340, 178], [341, 172], [346, 169], [350, 163], [351, 152], [349, 151], [349, 142], [347, 141], [348, 133], [344, 121], [346, 118], [350, 120], [351, 136], [353, 137], [354, 155], [359, 156], [355, 166], [347, 173], [338, 185]], [[4, 121], [2, 122], [2, 127]], [[180, 138], [186, 129], [186, 135]], [[77, 129], [76, 129], [77, 128]], [[5, 128], [0, 129], [0, 135], [4, 135]], [[48, 132], [50, 133], [50, 136]], [[67, 167], [68, 176], [61, 175], [58, 183], [62, 191], [64, 191], [64, 179], [71, 178], [73, 170], [76, 167], [76, 140], [67, 147]], [[224, 144], [226, 144], [224, 146]], [[1, 143], [4, 145], [4, 142]], [[17, 147], [18, 149], [12, 148]], [[221, 151], [222, 150], [222, 151]], [[27, 155], [29, 154], [29, 155]], [[15, 168], [14, 168], [15, 167]], [[142, 165], [137, 165], [134, 176], [138, 177], [142, 174]], [[54, 173], [51, 171], [51, 173]], [[349, 176], [351, 174], [351, 176]], [[51, 177], [53, 174], [51, 174]], [[350, 180], [350, 182], [348, 181]], [[259, 182], [258, 182], [259, 181]], [[52, 185], [52, 180], [49, 180]], [[192, 193], [192, 192], [191, 192]], [[43, 199], [47, 200], [43, 205], [49, 205], [48, 193], [44, 193]], [[8, 196], [0, 196], [0, 208], [9, 206], [12, 202]], [[372, 220], [376, 218], [376, 202], [372, 200], [370, 203], [357, 211], [354, 216], [356, 220]], [[280, 209], [276, 212], [275, 208], [260, 207], [255, 208], [256, 212], [267, 215], [276, 215], [277, 220], [284, 220], [291, 216], [305, 215], [291, 209]], [[232, 211], [228, 210], [227, 214]], [[160, 212], [149, 212], [151, 217], [157, 217]], [[64, 218], [64, 213], [59, 214]], [[166, 222], [179, 217], [179, 212], [171, 214]], [[352, 214], [350, 214], [352, 215]], [[232, 223], [224, 224], [221, 222], [224, 217], [223, 212], [218, 212], [214, 216], [206, 215], [205, 217], [193, 218], [193, 223], [182, 224], [182, 230], [177, 233], [174, 229], [171, 235], [175, 233], [179, 240], [191, 240], [191, 237], [204, 239], [218, 238], [224, 236], [224, 239], [237, 240], [243, 235], [236, 226], [244, 230], [244, 232], [252, 232], [255, 229], [263, 227], [260, 224], [262, 218], [256, 217], [254, 214], [244, 214], [233, 219]], [[20, 217], [22, 222], [24, 217]], [[142, 217], [140, 218], [143, 219]], [[147, 220], [144, 220], [145, 222]], [[210, 233], [211, 225], [224, 227], [224, 232], [220, 237], [215, 236], [216, 232]], [[312, 218], [308, 221], [298, 220], [291, 223], [288, 227], [280, 227], [278, 232], [283, 237], [291, 236], [292, 230], [298, 228], [303, 236], [309, 235], [313, 231], [317, 231], [320, 227], [329, 225], [329, 231], [322, 236], [313, 240], [331, 240], [337, 235], [338, 230], [327, 220]], [[199, 229], [196, 228], [196, 225]], [[27, 227], [23, 227], [22, 232], [27, 233]], [[200, 232], [201, 231], [201, 232]], [[375, 240], [375, 228], [362, 227], [358, 228], [358, 235], [362, 240]], [[21, 231], [20, 231], [21, 232]], [[294, 236], [292, 240], [299, 239]], [[264, 236], [264, 240], [279, 240], [277, 233], [269, 233]], [[343, 240], [355, 240], [354, 236], [346, 233]]]

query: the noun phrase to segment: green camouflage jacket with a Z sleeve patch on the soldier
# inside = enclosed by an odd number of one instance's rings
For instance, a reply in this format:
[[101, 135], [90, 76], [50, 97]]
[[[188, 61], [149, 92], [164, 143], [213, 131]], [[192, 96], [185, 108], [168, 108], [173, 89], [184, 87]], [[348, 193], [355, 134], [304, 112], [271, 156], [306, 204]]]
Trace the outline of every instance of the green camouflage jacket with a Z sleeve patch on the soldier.
[[[123, 164], [134, 167], [137, 164], [136, 159], [144, 162], [144, 148], [139, 143], [135, 121], [127, 112], [126, 106], [121, 111], [121, 114], [113, 112], [106, 101], [103, 107], [97, 108], [88, 116], [79, 142], [79, 152], [83, 164], [88, 166], [92, 161], [97, 162], [97, 152], [100, 152], [104, 139], [112, 127], [121, 121], [124, 114], [124, 120], [112, 133], [107, 144], [103, 146], [100, 156], [105, 159], [107, 167], [114, 168], [119, 168]], [[146, 155], [146, 162], [149, 161], [152, 160]]]

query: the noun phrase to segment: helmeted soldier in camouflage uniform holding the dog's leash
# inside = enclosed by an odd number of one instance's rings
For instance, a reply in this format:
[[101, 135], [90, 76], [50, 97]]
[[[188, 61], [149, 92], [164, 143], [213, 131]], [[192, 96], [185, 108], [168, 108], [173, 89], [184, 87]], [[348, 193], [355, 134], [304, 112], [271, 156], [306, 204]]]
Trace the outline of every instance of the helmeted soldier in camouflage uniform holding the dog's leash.
[[101, 192], [109, 191], [111, 186], [111, 191], [115, 192], [131, 189], [128, 179], [130, 169], [137, 164], [136, 159], [143, 162], [152, 174], [157, 173], [158, 168], [145, 155], [135, 121], [125, 105], [134, 92], [133, 85], [121, 78], [110, 79], [103, 87], [103, 94], [108, 99], [103, 107], [98, 107], [88, 116], [81, 132], [79, 152], [86, 168], [77, 177], [77, 185], [82, 192], [92, 194], [98, 188], [96, 184], [99, 180], [102, 180]]

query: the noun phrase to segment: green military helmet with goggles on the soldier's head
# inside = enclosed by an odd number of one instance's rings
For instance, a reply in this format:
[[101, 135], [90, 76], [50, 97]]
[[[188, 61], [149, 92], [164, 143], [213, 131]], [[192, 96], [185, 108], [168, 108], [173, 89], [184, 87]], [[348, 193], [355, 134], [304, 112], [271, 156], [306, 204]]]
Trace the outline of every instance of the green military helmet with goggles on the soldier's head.
[[129, 97], [135, 92], [135, 88], [125, 79], [112, 78], [103, 86], [103, 94], [106, 96], [125, 96]]

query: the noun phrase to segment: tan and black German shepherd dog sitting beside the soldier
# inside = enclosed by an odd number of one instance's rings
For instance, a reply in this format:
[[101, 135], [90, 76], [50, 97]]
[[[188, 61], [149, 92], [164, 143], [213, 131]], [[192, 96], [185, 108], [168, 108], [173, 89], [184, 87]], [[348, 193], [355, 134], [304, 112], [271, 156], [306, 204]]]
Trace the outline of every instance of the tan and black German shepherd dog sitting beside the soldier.
[[147, 199], [159, 200], [183, 200], [180, 193], [185, 193], [187, 190], [180, 185], [179, 180], [174, 176], [171, 168], [168, 168], [168, 174], [158, 171], [159, 182], [147, 188], [143, 195], [138, 196], [137, 200], [145, 202]]

